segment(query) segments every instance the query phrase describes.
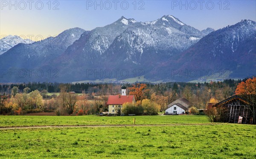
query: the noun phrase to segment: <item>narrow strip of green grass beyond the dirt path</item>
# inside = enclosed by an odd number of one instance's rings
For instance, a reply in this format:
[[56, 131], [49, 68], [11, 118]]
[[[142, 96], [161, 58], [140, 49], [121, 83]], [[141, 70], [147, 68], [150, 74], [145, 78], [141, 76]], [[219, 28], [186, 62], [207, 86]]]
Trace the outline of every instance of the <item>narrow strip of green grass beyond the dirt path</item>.
[[[0, 116], [0, 127], [133, 124], [134, 116]], [[135, 116], [136, 124], [209, 123], [206, 116]]]

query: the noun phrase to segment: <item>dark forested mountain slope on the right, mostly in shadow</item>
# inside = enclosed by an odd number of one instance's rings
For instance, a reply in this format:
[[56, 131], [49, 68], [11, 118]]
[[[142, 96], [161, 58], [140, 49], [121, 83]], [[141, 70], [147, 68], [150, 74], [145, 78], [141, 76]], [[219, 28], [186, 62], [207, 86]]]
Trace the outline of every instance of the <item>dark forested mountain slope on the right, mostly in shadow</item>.
[[[232, 26], [218, 29], [202, 38], [198, 43], [168, 61], [156, 66], [146, 75], [148, 78], [189, 81], [205, 76], [207, 71], [221, 77], [245, 78], [256, 75], [256, 22], [242, 20]], [[182, 72], [193, 70], [180, 78], [172, 75], [169, 68]], [[195, 70], [204, 70], [200, 73]], [[169, 72], [169, 73], [168, 73]], [[210, 75], [208, 75], [210, 76]], [[159, 78], [158, 78], [159, 79]]]

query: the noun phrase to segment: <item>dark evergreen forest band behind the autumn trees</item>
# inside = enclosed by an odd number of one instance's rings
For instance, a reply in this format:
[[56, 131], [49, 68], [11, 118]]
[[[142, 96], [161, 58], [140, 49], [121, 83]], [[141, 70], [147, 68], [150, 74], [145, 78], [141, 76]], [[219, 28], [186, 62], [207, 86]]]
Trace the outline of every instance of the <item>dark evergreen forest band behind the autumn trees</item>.
[[[212, 88], [215, 87], [221, 88], [224, 86], [228, 86], [231, 88], [236, 87], [241, 81], [246, 81], [247, 78], [244, 78], [242, 80], [233, 80], [233, 79], [226, 79], [224, 81], [218, 81], [218, 82], [210, 82], [210, 83], [186, 83], [186, 82], [167, 82], [167, 83], [160, 83], [160, 84], [153, 84], [153, 83], [144, 83], [147, 85], [147, 89], [149, 90], [155, 90], [165, 92], [166, 90], [173, 90], [177, 94], [182, 92], [182, 90], [189, 86], [192, 90], [200, 90], [201, 87], [208, 87]], [[48, 93], [59, 93], [60, 92], [60, 84], [61, 83], [49, 83], [49, 82], [32, 82], [32, 83], [20, 83], [20, 84], [0, 84], [0, 94], [6, 93], [11, 94], [11, 90], [13, 87], [18, 87], [19, 92], [22, 93], [23, 89], [26, 87], [29, 87], [31, 91], [38, 90], [47, 90]], [[76, 83], [76, 84], [70, 84], [70, 92], [75, 93], [98, 93], [104, 86], [108, 87], [116, 87], [121, 86], [121, 83]], [[132, 84], [126, 83], [127, 87], [131, 87]], [[213, 89], [214, 90], [214, 89]], [[117, 91], [117, 92], [116, 92]], [[113, 92], [109, 92], [110, 94], [116, 94], [119, 93], [121, 90], [113, 90]]]

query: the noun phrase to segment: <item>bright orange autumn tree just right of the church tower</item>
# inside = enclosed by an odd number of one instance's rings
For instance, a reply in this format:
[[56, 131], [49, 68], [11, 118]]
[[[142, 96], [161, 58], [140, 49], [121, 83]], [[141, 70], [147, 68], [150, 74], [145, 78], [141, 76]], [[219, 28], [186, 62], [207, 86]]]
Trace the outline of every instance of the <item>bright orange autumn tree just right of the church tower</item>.
[[130, 93], [129, 95], [134, 95], [136, 101], [141, 101], [145, 99], [145, 91], [148, 91], [146, 84], [139, 84], [132, 85], [132, 87], [129, 88]]

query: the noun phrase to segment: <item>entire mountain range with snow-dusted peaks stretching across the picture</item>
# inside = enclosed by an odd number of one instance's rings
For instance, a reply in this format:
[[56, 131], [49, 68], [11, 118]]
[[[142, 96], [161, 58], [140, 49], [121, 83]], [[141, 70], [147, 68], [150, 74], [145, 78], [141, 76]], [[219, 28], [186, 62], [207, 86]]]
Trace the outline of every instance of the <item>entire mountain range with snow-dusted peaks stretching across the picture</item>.
[[[134, 77], [134, 70], [140, 69], [149, 80], [170, 81], [170, 70], [192, 68], [230, 69], [233, 77], [244, 78], [244, 75], [256, 74], [253, 72], [256, 68], [253, 62], [255, 23], [247, 20], [217, 31], [211, 28], [200, 31], [172, 15], [151, 22], [137, 22], [122, 16], [91, 31], [73, 28], [57, 37], [14, 46], [0, 55], [1, 69], [39, 69], [44, 76], [6, 76], [1, 81], [121, 79]], [[58, 70], [58, 78], [49, 76], [49, 70]], [[119, 73], [106, 76], [105, 70], [119, 70]], [[121, 70], [128, 71], [129, 75], [120, 74]]]

